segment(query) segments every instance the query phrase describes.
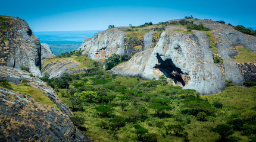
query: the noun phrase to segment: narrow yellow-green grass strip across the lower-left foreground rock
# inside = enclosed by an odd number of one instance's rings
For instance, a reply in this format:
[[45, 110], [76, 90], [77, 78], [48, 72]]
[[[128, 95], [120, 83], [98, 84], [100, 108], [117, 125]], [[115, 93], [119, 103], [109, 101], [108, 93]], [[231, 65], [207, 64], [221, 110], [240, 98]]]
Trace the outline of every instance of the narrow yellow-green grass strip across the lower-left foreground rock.
[[26, 83], [21, 83], [19, 85], [15, 85], [14, 83], [10, 82], [10, 84], [11, 84], [11, 88], [13, 88], [14, 91], [25, 93], [26, 95], [31, 96], [36, 101], [38, 101], [46, 106], [51, 106], [53, 108], [59, 109], [58, 106], [56, 104], [54, 104], [54, 102], [52, 102], [51, 99], [49, 99], [47, 96], [45, 96], [43, 94], [43, 92], [40, 91], [39, 89], [37, 89], [33, 86], [30, 86], [30, 85], [27, 85]]

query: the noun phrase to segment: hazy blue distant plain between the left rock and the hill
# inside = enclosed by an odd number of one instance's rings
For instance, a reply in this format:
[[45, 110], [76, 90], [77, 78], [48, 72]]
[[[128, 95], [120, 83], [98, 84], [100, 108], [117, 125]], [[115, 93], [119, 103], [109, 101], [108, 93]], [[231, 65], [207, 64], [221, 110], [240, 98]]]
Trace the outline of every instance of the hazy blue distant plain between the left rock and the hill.
[[78, 49], [83, 40], [93, 37], [101, 30], [94, 31], [38, 31], [33, 32], [39, 38], [40, 43], [46, 43], [51, 47], [55, 55]]

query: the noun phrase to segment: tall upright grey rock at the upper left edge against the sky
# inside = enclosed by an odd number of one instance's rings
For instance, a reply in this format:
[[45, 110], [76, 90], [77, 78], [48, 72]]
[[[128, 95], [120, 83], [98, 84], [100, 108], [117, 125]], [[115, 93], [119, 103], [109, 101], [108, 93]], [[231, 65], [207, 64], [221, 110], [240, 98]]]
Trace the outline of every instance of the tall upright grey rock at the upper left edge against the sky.
[[1, 18], [4, 22], [0, 22], [0, 66], [26, 66], [33, 75], [41, 76], [40, 42], [27, 22], [15, 17]]

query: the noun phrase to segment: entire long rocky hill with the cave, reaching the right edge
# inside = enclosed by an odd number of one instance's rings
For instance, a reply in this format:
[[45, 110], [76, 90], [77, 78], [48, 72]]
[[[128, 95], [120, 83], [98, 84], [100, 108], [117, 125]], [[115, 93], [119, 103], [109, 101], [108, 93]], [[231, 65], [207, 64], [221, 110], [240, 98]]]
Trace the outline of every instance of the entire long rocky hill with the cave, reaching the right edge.
[[[186, 24], [183, 24], [185, 22], [202, 24], [210, 30], [189, 31]], [[226, 80], [231, 80], [235, 85], [242, 85], [243, 81], [248, 79], [255, 81], [256, 37], [236, 31], [230, 25], [211, 20], [190, 19], [171, 20], [164, 25], [157, 24], [143, 28], [119, 27], [111, 31], [117, 30], [126, 33], [121, 36], [124, 40], [123, 46], [118, 45], [119, 50], [124, 50], [121, 54], [129, 54], [132, 59], [114, 67], [110, 71], [114, 74], [140, 76], [143, 79], [154, 79], [165, 75], [173, 80], [174, 84], [183, 86], [185, 89], [196, 89], [202, 94], [222, 91]], [[95, 38], [97, 38], [96, 35], [92, 40], [83, 43], [86, 54], [91, 59], [98, 59], [92, 50], [100, 49], [99, 44], [97, 47], [94, 46]], [[101, 39], [104, 38], [97, 38], [97, 43], [106, 41]], [[129, 43], [127, 39], [131, 39], [133, 44], [127, 44]], [[119, 40], [121, 41], [121, 38]], [[142, 40], [141, 44], [136, 44], [136, 41]], [[88, 42], [92, 44], [86, 44]], [[154, 50], [147, 50], [149, 44]], [[120, 49], [121, 47], [125, 48]], [[239, 51], [239, 47], [245, 49]], [[111, 46], [111, 48], [114, 47]], [[127, 52], [129, 48], [138, 50]], [[252, 61], [243, 60], [242, 54], [246, 49], [249, 54], [252, 54]], [[104, 50], [108, 50], [108, 46]], [[219, 59], [218, 62], [215, 61], [217, 59]], [[238, 62], [238, 59], [242, 59], [242, 62], [241, 60]]]

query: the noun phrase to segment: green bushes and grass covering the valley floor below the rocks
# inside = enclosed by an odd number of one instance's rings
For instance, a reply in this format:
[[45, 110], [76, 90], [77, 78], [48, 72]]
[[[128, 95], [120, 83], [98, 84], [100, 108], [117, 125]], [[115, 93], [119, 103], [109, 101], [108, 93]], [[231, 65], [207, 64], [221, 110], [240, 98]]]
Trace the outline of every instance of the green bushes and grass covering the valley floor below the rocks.
[[[229, 86], [201, 96], [192, 89], [167, 85], [164, 76], [142, 80], [111, 75], [94, 61], [88, 63], [91, 68], [85, 73], [42, 79], [54, 87], [75, 117], [85, 119], [73, 121], [93, 141], [249, 141], [255, 137], [254, 87]], [[234, 133], [220, 133], [221, 124]]]

